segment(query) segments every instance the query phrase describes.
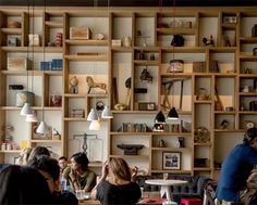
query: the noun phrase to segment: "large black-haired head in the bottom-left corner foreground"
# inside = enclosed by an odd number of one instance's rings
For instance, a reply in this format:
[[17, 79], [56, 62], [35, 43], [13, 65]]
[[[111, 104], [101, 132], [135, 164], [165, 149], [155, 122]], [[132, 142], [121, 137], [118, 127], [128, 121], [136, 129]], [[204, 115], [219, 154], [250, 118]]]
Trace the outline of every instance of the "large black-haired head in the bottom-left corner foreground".
[[47, 205], [51, 193], [42, 175], [33, 167], [10, 165], [0, 171], [1, 205]]

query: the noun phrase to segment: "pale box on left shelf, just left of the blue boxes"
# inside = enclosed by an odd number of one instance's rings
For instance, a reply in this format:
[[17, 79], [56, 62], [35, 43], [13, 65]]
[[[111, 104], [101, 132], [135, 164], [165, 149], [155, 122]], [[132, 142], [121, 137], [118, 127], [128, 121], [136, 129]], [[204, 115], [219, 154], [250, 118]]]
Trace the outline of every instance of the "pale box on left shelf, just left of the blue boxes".
[[8, 57], [8, 71], [30, 69], [32, 62], [27, 57]]

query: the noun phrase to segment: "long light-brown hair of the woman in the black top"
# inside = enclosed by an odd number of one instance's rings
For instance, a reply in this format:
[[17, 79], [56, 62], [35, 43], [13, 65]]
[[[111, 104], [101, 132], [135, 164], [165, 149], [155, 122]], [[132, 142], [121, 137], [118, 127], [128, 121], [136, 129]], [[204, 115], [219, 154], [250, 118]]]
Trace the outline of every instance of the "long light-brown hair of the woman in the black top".
[[114, 178], [131, 181], [131, 169], [123, 158], [111, 157], [108, 167]]

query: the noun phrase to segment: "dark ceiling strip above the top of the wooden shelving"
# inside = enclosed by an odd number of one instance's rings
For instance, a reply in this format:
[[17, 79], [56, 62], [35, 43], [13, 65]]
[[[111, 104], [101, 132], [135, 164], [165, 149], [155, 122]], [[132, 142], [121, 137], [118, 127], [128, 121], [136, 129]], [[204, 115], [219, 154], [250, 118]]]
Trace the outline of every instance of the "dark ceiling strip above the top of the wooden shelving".
[[0, 5], [47, 7], [246, 7], [257, 5], [257, 0], [0, 0]]

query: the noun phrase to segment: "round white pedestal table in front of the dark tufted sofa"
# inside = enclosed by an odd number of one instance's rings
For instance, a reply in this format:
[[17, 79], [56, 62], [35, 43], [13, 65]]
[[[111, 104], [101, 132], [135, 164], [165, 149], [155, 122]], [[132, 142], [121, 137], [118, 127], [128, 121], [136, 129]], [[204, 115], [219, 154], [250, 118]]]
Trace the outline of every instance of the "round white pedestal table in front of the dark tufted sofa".
[[187, 181], [184, 180], [175, 180], [175, 179], [149, 179], [146, 180], [146, 183], [152, 184], [152, 185], [160, 185], [160, 194], [161, 196], [166, 193], [167, 202], [164, 204], [176, 204], [175, 202], [172, 202], [171, 197], [171, 185], [180, 185], [187, 183]]

